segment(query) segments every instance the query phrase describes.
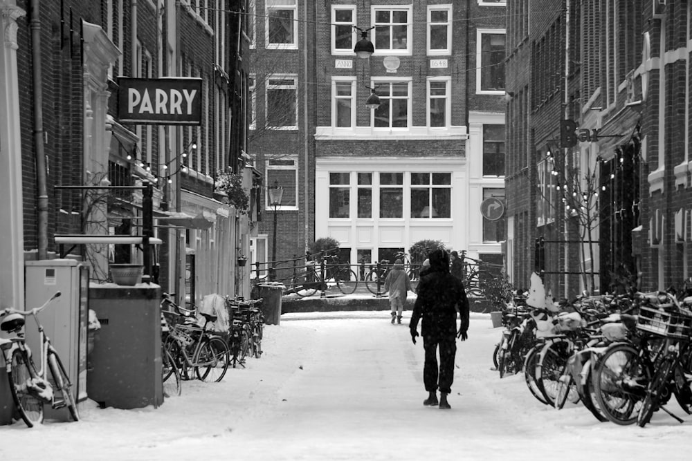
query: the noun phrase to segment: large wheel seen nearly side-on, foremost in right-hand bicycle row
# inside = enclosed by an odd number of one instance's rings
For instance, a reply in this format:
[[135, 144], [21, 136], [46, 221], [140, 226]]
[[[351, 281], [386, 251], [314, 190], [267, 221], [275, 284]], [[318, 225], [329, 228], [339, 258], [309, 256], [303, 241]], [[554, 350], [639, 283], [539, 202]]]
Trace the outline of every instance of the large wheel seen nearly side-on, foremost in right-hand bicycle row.
[[650, 375], [639, 350], [629, 344], [614, 344], [603, 353], [593, 373], [594, 395], [601, 413], [615, 424], [633, 424]]

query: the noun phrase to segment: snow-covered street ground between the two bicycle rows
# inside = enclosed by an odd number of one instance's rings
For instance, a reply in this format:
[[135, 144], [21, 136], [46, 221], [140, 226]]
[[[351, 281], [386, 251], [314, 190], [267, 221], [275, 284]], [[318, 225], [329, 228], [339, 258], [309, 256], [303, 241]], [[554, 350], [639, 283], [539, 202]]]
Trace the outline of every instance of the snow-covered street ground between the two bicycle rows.
[[675, 404], [684, 424], [657, 412], [617, 426], [540, 404], [522, 375], [499, 379], [488, 314], [458, 343], [450, 411], [422, 405], [423, 346], [389, 312], [284, 314], [265, 331], [262, 359], [183, 382], [159, 408], [87, 401], [78, 423], [0, 426], [0, 460], [692, 459], [692, 415]]

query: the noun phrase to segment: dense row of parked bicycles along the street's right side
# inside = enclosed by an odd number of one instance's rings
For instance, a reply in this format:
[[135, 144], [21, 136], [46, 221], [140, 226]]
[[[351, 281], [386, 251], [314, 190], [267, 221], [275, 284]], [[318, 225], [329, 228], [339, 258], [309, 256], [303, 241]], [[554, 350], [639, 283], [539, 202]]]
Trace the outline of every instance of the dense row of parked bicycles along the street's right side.
[[511, 303], [493, 353], [500, 377], [523, 372], [543, 404], [583, 404], [597, 420], [645, 426], [655, 411], [692, 413], [692, 297], [631, 293], [563, 301], [554, 309]]

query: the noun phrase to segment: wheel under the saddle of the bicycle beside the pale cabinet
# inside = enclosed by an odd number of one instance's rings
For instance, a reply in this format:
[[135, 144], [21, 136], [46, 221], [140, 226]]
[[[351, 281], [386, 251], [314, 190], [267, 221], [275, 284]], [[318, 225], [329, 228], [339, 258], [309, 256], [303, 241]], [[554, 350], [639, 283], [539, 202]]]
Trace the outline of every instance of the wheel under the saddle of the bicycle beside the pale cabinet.
[[12, 352], [11, 360], [8, 379], [17, 412], [27, 426], [33, 427], [34, 424], [41, 424], [44, 420], [44, 402], [30, 392], [28, 388], [28, 383], [38, 379], [34, 362], [24, 350]]

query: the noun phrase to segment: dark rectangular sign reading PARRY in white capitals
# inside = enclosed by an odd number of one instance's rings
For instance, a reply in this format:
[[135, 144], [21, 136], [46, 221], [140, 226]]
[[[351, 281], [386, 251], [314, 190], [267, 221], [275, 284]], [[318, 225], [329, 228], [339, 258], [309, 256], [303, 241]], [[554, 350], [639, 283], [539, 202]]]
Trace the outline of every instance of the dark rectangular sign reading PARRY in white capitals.
[[199, 125], [202, 79], [118, 78], [118, 122]]

